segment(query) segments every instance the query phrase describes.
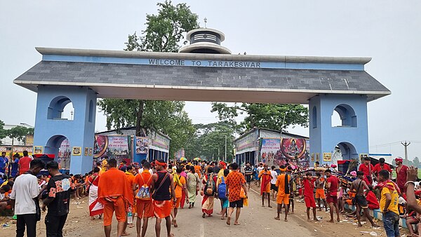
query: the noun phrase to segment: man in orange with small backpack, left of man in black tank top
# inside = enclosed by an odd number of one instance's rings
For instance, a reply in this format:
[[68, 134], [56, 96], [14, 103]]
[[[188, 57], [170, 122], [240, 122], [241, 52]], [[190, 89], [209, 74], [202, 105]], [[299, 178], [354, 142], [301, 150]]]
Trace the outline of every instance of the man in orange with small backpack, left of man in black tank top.
[[[152, 175], [149, 172], [151, 164], [145, 162], [142, 165], [142, 173], [136, 175], [135, 182], [133, 183], [133, 192], [136, 197], [136, 212], [138, 212], [138, 220], [136, 221], [136, 230], [138, 236], [140, 236], [140, 226], [142, 224], [142, 237], [145, 237], [147, 230], [147, 222], [149, 217], [154, 216], [154, 208], [152, 206], [152, 197], [150, 193], [150, 187], [152, 185]], [[139, 191], [136, 191], [139, 189]]]

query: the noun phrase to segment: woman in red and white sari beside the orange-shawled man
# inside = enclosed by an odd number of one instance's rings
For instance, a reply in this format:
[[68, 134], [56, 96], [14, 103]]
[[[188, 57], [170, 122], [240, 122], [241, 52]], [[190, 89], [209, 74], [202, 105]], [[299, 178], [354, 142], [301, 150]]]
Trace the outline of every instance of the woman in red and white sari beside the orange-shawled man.
[[99, 215], [99, 219], [102, 217], [104, 212], [104, 205], [98, 202], [98, 182], [100, 182], [100, 168], [93, 168], [93, 175], [89, 177], [89, 215], [91, 219], [95, 219], [95, 215]]

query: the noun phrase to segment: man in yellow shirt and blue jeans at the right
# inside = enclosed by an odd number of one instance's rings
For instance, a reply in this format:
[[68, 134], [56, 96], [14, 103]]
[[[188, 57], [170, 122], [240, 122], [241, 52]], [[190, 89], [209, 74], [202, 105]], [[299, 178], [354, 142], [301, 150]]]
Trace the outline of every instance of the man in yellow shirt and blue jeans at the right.
[[380, 210], [382, 210], [383, 226], [385, 227], [386, 235], [399, 235], [399, 187], [397, 184], [389, 180], [389, 171], [381, 170], [379, 172], [379, 182], [376, 188], [381, 190]]

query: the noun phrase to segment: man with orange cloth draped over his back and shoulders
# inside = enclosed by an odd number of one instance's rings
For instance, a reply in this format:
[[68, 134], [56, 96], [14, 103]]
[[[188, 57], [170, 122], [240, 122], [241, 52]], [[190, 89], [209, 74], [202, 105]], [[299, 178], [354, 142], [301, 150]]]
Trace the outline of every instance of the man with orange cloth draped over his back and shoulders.
[[109, 159], [108, 170], [102, 173], [98, 183], [98, 201], [104, 205], [104, 231], [105, 236], [111, 235], [113, 212], [116, 212], [117, 236], [123, 234], [126, 223], [126, 203], [133, 205], [133, 194], [128, 187], [126, 174], [117, 170], [117, 161]]

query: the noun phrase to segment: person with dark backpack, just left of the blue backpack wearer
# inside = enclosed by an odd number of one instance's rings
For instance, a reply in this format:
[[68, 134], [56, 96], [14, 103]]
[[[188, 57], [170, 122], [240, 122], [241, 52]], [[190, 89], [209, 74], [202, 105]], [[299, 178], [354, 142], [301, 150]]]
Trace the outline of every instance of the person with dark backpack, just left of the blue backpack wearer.
[[208, 173], [203, 176], [203, 190], [200, 192], [200, 195], [203, 196], [202, 199], [202, 217], [205, 218], [212, 217], [213, 213], [213, 202], [215, 201], [216, 194], [216, 178], [217, 176], [213, 174], [213, 168], [208, 167]]

